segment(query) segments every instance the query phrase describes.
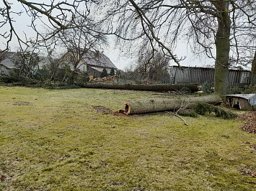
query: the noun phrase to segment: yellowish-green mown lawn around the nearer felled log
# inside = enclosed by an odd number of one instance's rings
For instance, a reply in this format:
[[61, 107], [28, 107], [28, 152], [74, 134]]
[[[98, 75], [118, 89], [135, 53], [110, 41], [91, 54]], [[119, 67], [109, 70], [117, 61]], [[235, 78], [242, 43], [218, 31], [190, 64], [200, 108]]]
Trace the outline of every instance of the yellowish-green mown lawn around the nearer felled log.
[[133, 90], [0, 86], [0, 190], [253, 190], [255, 135], [238, 120], [114, 116]]

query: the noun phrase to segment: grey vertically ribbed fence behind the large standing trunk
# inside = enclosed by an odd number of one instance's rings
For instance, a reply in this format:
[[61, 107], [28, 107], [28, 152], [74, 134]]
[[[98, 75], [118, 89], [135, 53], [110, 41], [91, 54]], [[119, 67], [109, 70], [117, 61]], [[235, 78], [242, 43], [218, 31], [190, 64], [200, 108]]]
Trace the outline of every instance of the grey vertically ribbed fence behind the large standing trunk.
[[[170, 66], [171, 83], [198, 83], [203, 85], [206, 81], [213, 84], [214, 68], [208, 67], [182, 67]], [[251, 72], [249, 70], [229, 70], [229, 86], [249, 85]]]

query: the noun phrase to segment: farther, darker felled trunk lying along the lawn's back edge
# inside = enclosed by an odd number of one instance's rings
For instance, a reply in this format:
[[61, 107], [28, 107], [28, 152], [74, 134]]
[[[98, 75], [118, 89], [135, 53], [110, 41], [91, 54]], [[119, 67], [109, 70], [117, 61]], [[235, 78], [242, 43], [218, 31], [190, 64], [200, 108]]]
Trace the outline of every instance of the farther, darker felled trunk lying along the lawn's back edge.
[[108, 83], [86, 83], [81, 85], [83, 88], [109, 88], [120, 90], [145, 90], [145, 91], [176, 91], [182, 88], [189, 88], [191, 92], [198, 91], [198, 85], [195, 83], [180, 84], [108, 84]]

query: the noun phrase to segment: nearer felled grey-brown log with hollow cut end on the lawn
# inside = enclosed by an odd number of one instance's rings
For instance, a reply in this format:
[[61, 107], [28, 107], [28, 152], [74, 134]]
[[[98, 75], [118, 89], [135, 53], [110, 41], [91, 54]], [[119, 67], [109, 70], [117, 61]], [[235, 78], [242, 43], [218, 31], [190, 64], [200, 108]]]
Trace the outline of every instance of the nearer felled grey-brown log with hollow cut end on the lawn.
[[222, 102], [222, 99], [217, 95], [206, 95], [193, 98], [127, 101], [125, 102], [124, 111], [127, 115], [158, 111], [174, 111], [179, 109], [181, 106], [200, 102], [213, 104]]

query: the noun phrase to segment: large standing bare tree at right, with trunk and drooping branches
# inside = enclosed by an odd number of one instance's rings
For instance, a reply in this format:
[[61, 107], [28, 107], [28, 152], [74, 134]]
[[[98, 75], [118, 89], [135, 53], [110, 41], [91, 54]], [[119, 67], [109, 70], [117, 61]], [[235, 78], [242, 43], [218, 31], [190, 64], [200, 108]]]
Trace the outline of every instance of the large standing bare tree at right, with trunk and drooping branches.
[[144, 37], [144, 44], [151, 46], [151, 59], [155, 47], [159, 46], [165, 56], [180, 65], [182, 58], [178, 59], [173, 51], [182, 35], [200, 45], [203, 52], [215, 60], [215, 90], [219, 94], [226, 90], [231, 47], [239, 48], [247, 36], [236, 35], [237, 24], [241, 29], [255, 22], [256, 17], [253, 0], [128, 0], [118, 4], [115, 1], [115, 6], [107, 17], [112, 21], [120, 18], [117, 23], [122, 27], [117, 28], [118, 36]]

